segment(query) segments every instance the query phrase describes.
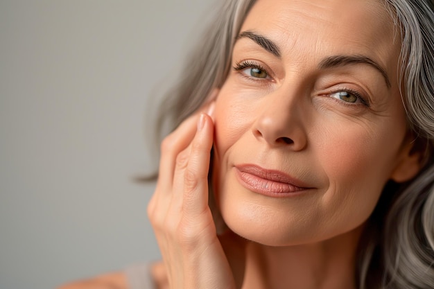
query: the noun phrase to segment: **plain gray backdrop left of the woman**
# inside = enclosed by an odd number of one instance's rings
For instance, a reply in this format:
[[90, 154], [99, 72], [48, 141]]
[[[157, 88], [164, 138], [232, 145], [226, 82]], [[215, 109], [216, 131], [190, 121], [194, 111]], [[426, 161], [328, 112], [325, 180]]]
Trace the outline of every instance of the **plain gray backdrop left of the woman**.
[[188, 73], [213, 0], [0, 0], [0, 288], [159, 259], [147, 99]]

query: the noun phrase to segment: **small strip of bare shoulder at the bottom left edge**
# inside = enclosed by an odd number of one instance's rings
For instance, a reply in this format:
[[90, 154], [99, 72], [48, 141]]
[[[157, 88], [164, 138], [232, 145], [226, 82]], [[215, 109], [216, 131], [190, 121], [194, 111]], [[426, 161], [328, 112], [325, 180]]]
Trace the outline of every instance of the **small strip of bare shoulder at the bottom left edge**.
[[58, 289], [128, 289], [128, 281], [123, 272], [113, 272], [64, 284]]

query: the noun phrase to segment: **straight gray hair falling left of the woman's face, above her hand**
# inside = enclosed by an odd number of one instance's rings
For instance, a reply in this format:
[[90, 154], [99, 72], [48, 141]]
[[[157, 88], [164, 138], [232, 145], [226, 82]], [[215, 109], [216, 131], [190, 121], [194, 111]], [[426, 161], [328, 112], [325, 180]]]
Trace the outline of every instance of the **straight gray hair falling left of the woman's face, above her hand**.
[[[157, 119], [157, 141], [167, 131], [205, 103], [212, 89], [221, 87], [230, 69], [232, 47], [245, 16], [252, 8], [252, 0], [225, 0], [212, 26], [200, 38], [188, 62], [189, 73], [167, 94]], [[206, 68], [206, 69], [205, 69]]]

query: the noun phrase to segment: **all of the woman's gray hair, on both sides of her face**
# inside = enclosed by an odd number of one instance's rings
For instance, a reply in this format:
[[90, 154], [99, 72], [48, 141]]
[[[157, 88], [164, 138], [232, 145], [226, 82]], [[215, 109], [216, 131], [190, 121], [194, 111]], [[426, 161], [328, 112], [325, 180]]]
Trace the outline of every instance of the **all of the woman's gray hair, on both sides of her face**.
[[[383, 0], [401, 36], [399, 80], [424, 168], [410, 182], [389, 182], [361, 238], [358, 288], [434, 288], [434, 3]], [[254, 0], [225, 0], [189, 61], [189, 73], [164, 101], [158, 141], [205, 103], [227, 78], [232, 47]], [[206, 69], [205, 69], [206, 67]], [[170, 116], [170, 117], [168, 117]], [[165, 125], [166, 124], [166, 125]], [[168, 125], [167, 125], [168, 124]]]

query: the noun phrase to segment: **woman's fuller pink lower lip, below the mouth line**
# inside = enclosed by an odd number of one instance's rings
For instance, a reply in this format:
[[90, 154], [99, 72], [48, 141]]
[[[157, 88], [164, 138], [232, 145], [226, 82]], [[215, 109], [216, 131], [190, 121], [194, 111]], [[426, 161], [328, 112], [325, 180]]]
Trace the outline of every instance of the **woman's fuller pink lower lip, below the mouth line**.
[[236, 175], [241, 184], [248, 190], [274, 198], [285, 198], [299, 195], [307, 188], [300, 188], [292, 184], [263, 179], [257, 175], [242, 172], [236, 169]]

